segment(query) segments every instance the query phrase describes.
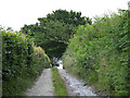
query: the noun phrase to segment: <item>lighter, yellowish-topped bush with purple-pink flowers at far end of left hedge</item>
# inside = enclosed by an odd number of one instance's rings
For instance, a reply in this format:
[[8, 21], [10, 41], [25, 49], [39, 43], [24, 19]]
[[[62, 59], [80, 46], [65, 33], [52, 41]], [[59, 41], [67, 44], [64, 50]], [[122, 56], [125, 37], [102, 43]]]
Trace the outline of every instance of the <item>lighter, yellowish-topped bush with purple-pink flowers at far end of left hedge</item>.
[[51, 61], [41, 47], [34, 46], [34, 53], [30, 54], [30, 57], [32, 58], [34, 62], [31, 66], [32, 71], [29, 71], [30, 74], [39, 75], [43, 68], [50, 68]]

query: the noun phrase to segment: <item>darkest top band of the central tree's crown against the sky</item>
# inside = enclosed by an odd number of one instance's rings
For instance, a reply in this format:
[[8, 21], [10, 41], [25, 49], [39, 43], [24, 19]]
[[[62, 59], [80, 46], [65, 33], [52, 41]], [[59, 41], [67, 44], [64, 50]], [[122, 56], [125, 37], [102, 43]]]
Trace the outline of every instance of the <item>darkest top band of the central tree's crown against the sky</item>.
[[75, 12], [73, 10], [68, 12], [60, 9], [48, 14], [47, 19], [49, 21], [60, 21], [65, 24], [73, 24], [74, 26], [84, 25], [86, 23], [92, 24], [92, 21], [89, 17], [81, 16], [81, 12]]

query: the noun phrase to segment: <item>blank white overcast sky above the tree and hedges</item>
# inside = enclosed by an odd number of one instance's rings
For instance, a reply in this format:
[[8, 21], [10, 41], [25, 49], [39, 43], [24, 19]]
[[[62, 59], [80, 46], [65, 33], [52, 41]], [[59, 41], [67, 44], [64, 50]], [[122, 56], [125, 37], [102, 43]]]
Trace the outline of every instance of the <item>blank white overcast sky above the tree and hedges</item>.
[[81, 12], [82, 16], [95, 15], [117, 9], [128, 9], [130, 0], [0, 0], [0, 25], [20, 30], [24, 24], [35, 24], [52, 11], [62, 9]]

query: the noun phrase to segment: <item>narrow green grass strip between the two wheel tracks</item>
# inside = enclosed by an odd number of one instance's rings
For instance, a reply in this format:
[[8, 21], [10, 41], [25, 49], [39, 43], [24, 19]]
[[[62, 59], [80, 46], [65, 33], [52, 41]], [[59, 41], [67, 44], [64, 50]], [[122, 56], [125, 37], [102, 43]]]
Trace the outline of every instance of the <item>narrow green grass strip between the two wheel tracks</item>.
[[67, 96], [66, 87], [56, 68], [52, 68], [52, 81], [55, 96]]

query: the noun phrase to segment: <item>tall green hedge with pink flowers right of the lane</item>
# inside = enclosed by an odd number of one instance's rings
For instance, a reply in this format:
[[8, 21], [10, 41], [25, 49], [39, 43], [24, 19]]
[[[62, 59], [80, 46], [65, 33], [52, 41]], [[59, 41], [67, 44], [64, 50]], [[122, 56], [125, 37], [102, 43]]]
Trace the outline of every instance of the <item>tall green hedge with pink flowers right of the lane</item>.
[[127, 11], [95, 17], [79, 26], [63, 56], [65, 69], [93, 85], [100, 93], [129, 95]]

